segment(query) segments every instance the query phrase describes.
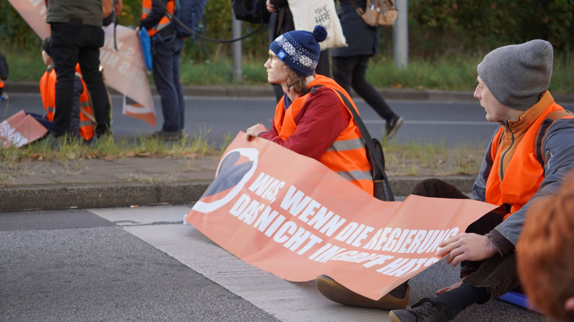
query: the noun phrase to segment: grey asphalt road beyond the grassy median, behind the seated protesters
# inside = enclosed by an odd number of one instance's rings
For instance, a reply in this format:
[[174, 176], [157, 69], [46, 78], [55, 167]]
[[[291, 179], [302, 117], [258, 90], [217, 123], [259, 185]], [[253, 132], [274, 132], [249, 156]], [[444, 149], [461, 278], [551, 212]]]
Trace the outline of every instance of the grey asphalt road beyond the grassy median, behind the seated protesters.
[[[114, 96], [112, 100], [111, 127], [116, 135], [149, 133], [161, 129], [163, 117], [158, 97], [154, 98], [157, 114], [157, 123], [154, 128], [143, 121], [122, 115], [121, 96]], [[223, 142], [228, 132], [234, 137], [238, 131], [246, 131], [251, 125], [257, 123], [270, 127], [276, 105], [272, 98], [232, 97], [186, 97], [185, 104], [187, 108], [185, 131], [195, 134], [199, 132], [199, 129], [211, 129], [207, 137], [216, 144]], [[385, 121], [363, 100], [357, 99], [356, 104], [371, 136], [381, 138]], [[405, 118], [405, 123], [395, 136], [397, 142], [405, 143], [416, 140], [438, 143], [446, 140], [451, 147], [460, 144], [484, 146], [497, 127], [497, 124], [484, 119], [486, 113], [478, 101], [472, 103], [389, 101], [389, 105]], [[571, 110], [574, 108], [574, 104], [563, 106]], [[5, 107], [2, 106], [2, 109]], [[10, 95], [10, 104], [5, 115], [10, 116], [21, 109], [44, 113], [40, 95]], [[3, 113], [2, 116], [4, 116]]]

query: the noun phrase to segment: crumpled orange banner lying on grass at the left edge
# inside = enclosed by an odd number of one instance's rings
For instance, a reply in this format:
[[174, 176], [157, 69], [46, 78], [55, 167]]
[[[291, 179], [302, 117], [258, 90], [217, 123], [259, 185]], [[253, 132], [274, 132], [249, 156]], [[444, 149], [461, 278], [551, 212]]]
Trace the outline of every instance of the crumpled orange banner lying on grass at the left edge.
[[19, 148], [40, 139], [46, 132], [44, 125], [20, 111], [0, 123], [0, 146]]

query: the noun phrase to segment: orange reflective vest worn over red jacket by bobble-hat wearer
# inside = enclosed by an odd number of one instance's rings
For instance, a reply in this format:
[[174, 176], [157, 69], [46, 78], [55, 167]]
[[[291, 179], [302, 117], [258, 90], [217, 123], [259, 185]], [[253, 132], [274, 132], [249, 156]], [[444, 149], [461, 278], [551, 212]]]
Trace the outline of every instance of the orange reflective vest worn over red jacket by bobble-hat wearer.
[[[343, 99], [337, 91], [342, 92], [352, 104], [352, 107], [347, 107], [347, 109], [354, 108], [355, 111], [357, 111], [351, 96], [349, 96], [348, 93], [331, 78], [316, 75], [315, 80], [309, 84], [309, 88], [315, 85], [324, 85], [331, 88], [337, 97], [339, 97], [341, 104], [344, 104]], [[284, 100], [280, 100], [277, 104], [273, 123], [277, 128], [277, 132], [281, 139], [286, 140], [297, 129], [294, 117], [303, 107], [305, 101], [307, 101], [310, 95], [311, 93], [308, 93], [307, 95], [300, 96], [293, 100], [293, 103], [291, 103], [289, 108], [286, 110]], [[357, 113], [359, 113], [359, 111], [357, 111]], [[349, 114], [351, 114], [350, 111]], [[354, 183], [360, 189], [363, 189], [366, 193], [373, 195], [373, 174], [371, 173], [369, 160], [367, 160], [367, 150], [364, 147], [362, 138], [360, 130], [351, 114], [351, 121], [347, 128], [339, 134], [332, 146], [328, 148], [327, 152], [321, 155], [319, 161], [329, 167], [332, 171], [343, 176], [343, 178]]]

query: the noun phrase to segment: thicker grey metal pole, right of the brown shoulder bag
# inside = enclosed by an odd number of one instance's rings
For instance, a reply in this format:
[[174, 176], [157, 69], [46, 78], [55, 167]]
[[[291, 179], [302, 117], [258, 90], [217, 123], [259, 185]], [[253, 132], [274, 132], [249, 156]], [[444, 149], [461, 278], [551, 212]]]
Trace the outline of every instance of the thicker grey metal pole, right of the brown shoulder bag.
[[398, 15], [393, 26], [393, 54], [395, 65], [406, 68], [409, 64], [409, 6], [408, 0], [396, 0]]

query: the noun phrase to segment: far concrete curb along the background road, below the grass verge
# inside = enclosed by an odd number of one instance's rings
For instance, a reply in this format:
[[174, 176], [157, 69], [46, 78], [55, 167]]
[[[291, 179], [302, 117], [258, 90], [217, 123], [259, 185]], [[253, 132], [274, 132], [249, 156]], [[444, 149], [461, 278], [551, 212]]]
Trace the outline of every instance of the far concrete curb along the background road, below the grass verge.
[[[6, 81], [8, 93], [38, 93], [36, 82], [10, 82]], [[185, 86], [186, 96], [210, 97], [274, 97], [273, 91], [265, 85], [219, 85], [219, 86]], [[409, 101], [476, 101], [472, 91], [441, 91], [437, 89], [409, 89], [409, 88], [378, 88], [377, 91], [387, 100]], [[119, 92], [111, 89], [112, 95]], [[156, 87], [152, 86], [153, 95], [157, 95]], [[356, 93], [353, 93], [356, 96]], [[574, 94], [552, 94], [559, 103], [574, 103]]]

